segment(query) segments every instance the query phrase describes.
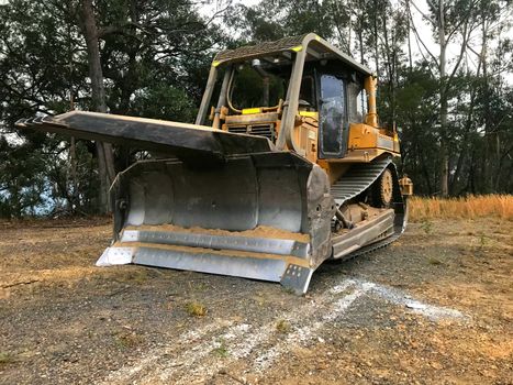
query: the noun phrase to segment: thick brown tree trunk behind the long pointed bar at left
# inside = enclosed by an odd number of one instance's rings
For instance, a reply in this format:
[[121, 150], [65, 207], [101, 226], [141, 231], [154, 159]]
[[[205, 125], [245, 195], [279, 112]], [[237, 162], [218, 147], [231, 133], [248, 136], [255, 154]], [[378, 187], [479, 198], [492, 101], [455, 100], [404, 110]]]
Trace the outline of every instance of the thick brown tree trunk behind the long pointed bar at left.
[[[91, 110], [107, 112], [105, 89], [100, 62], [98, 28], [92, 7], [92, 0], [81, 0], [81, 28], [86, 38], [89, 77], [91, 79]], [[114, 154], [110, 143], [97, 142], [98, 173], [100, 189], [98, 191], [99, 209], [109, 212], [109, 187], [115, 177]]]

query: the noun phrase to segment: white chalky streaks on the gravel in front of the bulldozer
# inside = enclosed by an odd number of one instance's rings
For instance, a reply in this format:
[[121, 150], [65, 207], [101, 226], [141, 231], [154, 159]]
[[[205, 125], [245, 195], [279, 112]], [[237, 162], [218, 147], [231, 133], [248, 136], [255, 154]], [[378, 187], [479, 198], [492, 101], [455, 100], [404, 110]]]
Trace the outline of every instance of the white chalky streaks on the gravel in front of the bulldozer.
[[[268, 345], [268, 342], [277, 336], [276, 322], [286, 320], [293, 330], [270, 349], [266, 348], [264, 352], [260, 350], [260, 354], [256, 354], [253, 360], [253, 367], [249, 372], [264, 374], [274, 362], [292, 348], [304, 345], [315, 339], [326, 323], [345, 317], [354, 302], [365, 295], [375, 295], [392, 305], [403, 306], [408, 310], [434, 321], [446, 318], [467, 318], [458, 310], [424, 304], [393, 287], [365, 279], [347, 278], [317, 296], [315, 300], [311, 300], [288, 314], [282, 314], [260, 327], [254, 328], [247, 323], [234, 324], [233, 321], [224, 321], [223, 323], [223, 321], [218, 320], [216, 323], [190, 330], [179, 341], [152, 350], [135, 365], [122, 367], [112, 373], [104, 384], [132, 384], [137, 377], [136, 382], [142, 384], [172, 383], [180, 385], [190, 384], [191, 381], [199, 380], [199, 377], [203, 380], [212, 377], [221, 369], [249, 356], [255, 351], [258, 353], [258, 346]], [[225, 332], [218, 334], [218, 331], [222, 329], [225, 329]], [[209, 333], [212, 333], [213, 337], [199, 342]], [[183, 343], [187, 343], [187, 346], [178, 351]], [[227, 356], [212, 360], [211, 353], [220, 348], [226, 349]], [[168, 360], [167, 358], [171, 356], [171, 353], [174, 356]], [[164, 360], [165, 358], [166, 360]]]

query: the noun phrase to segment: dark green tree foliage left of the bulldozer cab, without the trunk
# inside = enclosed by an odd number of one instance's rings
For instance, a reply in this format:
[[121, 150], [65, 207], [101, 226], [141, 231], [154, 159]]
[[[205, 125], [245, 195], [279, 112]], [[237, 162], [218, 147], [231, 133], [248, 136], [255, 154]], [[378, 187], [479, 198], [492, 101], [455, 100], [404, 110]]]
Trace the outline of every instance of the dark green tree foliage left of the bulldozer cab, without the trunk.
[[[18, 130], [35, 114], [88, 109], [90, 89], [79, 1], [10, 0], [0, 6], [0, 216], [97, 209], [94, 146]], [[110, 112], [191, 122], [224, 36], [186, 0], [96, 1]], [[115, 148], [126, 167], [137, 148]]]

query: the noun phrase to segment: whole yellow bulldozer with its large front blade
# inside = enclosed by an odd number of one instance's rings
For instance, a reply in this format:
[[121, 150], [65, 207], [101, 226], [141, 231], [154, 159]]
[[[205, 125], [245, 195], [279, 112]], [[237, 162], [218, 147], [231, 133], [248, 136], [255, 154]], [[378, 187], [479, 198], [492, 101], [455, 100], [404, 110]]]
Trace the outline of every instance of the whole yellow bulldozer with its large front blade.
[[[141, 264], [279, 282], [304, 294], [326, 260], [404, 231], [412, 182], [376, 75], [319, 35], [215, 55], [194, 124], [71, 111], [20, 128], [152, 155], [110, 188], [113, 240], [98, 266]], [[214, 99], [214, 96], [216, 99]]]

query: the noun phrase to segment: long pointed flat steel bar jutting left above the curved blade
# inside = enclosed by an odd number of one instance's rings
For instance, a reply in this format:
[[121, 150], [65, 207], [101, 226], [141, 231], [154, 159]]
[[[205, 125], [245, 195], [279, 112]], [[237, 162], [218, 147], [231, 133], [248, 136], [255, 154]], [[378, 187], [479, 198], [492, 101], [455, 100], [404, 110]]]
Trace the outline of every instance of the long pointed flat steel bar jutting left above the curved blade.
[[129, 145], [183, 160], [223, 160], [234, 154], [272, 150], [264, 136], [235, 134], [209, 127], [98, 112], [71, 111], [56, 117], [22, 119], [31, 128], [70, 136]]

